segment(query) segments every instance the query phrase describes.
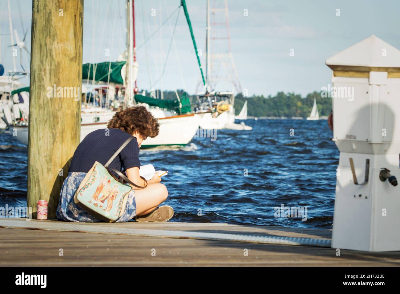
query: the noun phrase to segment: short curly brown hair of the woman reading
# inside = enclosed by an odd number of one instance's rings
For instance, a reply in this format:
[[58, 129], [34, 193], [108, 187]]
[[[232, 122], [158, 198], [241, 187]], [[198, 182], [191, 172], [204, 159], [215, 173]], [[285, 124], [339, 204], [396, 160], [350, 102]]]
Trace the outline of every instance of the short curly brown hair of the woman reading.
[[160, 124], [144, 106], [133, 106], [117, 111], [108, 122], [107, 128], [120, 129], [129, 134], [139, 132], [142, 138], [154, 138]]

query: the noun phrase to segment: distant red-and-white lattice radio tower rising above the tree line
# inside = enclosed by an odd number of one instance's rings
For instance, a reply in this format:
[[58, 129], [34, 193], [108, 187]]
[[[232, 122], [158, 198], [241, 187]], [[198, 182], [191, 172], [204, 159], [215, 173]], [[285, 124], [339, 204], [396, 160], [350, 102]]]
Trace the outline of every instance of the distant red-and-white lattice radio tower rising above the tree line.
[[[209, 91], [232, 91], [242, 93], [242, 86], [233, 60], [229, 33], [228, 0], [214, 0], [210, 8], [210, 44], [208, 48], [208, 66], [210, 69], [207, 88]], [[207, 29], [207, 28], [206, 28]], [[207, 42], [206, 42], [207, 44]], [[207, 56], [206, 56], [207, 58]], [[201, 78], [196, 86], [196, 94], [204, 88]], [[234, 89], [232, 89], [234, 88]]]

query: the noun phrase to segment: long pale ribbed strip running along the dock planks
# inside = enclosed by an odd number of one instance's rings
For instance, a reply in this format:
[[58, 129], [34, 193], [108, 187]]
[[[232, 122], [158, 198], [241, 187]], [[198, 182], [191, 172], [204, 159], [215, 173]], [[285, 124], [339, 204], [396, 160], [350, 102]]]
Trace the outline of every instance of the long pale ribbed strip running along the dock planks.
[[191, 238], [202, 240], [226, 240], [234, 242], [250, 242], [260, 244], [282, 244], [298, 246], [330, 247], [329, 239], [280, 237], [280, 236], [250, 236], [243, 234], [205, 233], [196, 231], [174, 230], [149, 230], [136, 228], [117, 228], [110, 226], [96, 226], [90, 224], [77, 224], [71, 222], [38, 222], [26, 220], [0, 220], [2, 228], [25, 228], [48, 231], [83, 232], [98, 234], [117, 234], [129, 236], [166, 237], [166, 238]]

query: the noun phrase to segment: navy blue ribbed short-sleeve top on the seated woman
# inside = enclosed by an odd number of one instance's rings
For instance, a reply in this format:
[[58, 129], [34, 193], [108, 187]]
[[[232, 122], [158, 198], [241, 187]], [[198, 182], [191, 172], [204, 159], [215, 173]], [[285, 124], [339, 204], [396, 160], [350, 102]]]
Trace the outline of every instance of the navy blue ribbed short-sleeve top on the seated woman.
[[[120, 129], [100, 129], [89, 133], [76, 148], [68, 172], [88, 172], [95, 161], [106, 164], [130, 137]], [[121, 171], [140, 167], [139, 151], [138, 141], [133, 138], [109, 166]]]

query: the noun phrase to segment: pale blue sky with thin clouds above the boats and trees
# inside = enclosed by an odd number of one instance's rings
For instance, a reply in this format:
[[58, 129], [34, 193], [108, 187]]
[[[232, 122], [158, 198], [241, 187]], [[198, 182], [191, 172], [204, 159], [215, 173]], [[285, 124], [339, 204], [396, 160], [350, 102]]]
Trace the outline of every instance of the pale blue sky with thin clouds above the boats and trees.
[[[217, 0], [217, 5], [223, 2]], [[179, 3], [180, 0], [135, 1], [137, 46], [143, 44], [143, 30], [147, 36], [154, 32], [160, 21], [164, 22]], [[22, 27], [28, 29], [26, 46], [30, 50], [32, 1], [10, 0], [10, 4], [12, 23], [20, 38], [24, 35]], [[211, 0], [211, 5], [214, 5], [214, 0]], [[187, 0], [187, 6], [198, 48], [204, 50], [206, 1]], [[400, 48], [400, 1], [228, 0], [228, 7], [231, 51], [240, 84], [243, 89], [248, 89], [249, 95], [268, 96], [284, 91], [305, 96], [320, 90], [330, 82], [331, 73], [325, 65], [326, 58], [372, 34]], [[244, 16], [245, 9], [248, 16]], [[336, 9], [340, 9], [340, 16], [336, 16]], [[155, 16], [151, 15], [152, 11]], [[171, 27], [167, 22], [146, 43], [147, 52], [145, 46], [138, 49], [140, 89], [150, 87], [150, 78], [153, 82], [160, 78], [176, 16], [177, 12], [170, 18]], [[11, 43], [6, 0], [0, 0], [0, 17], [0, 62], [7, 72], [12, 70], [12, 51], [7, 47]], [[116, 60], [125, 48], [124, 26], [124, 0], [85, 0], [83, 62]], [[218, 28], [213, 27], [212, 30], [217, 34]], [[224, 35], [223, 30], [220, 34]], [[200, 74], [183, 11], [180, 12], [174, 37], [177, 54], [172, 46], [162, 80], [154, 88], [185, 88], [192, 94]], [[226, 44], [221, 42], [220, 46], [214, 46], [214, 51], [227, 50]], [[110, 56], [105, 55], [106, 49], [110, 50]], [[290, 56], [291, 49], [294, 49], [294, 56]], [[27, 54], [23, 53], [23, 60], [24, 67], [29, 68]], [[205, 68], [204, 54], [202, 63]], [[16, 64], [17, 70], [20, 70], [19, 57]], [[225, 84], [218, 86], [220, 88], [216, 90], [230, 90]]]

